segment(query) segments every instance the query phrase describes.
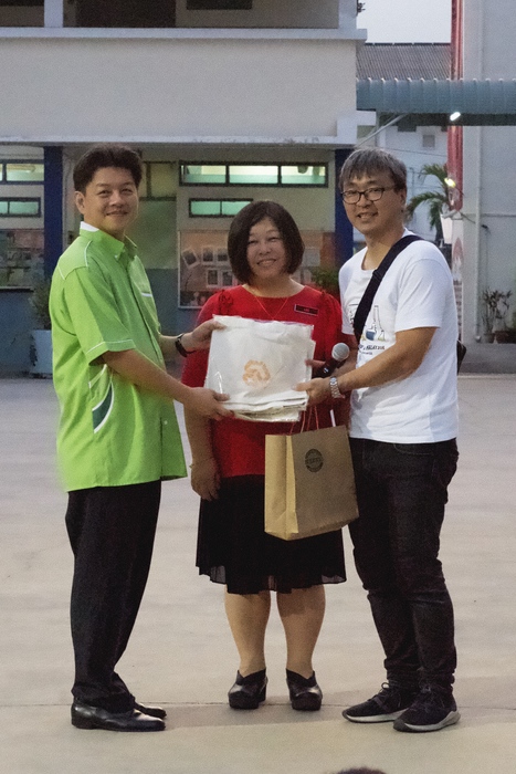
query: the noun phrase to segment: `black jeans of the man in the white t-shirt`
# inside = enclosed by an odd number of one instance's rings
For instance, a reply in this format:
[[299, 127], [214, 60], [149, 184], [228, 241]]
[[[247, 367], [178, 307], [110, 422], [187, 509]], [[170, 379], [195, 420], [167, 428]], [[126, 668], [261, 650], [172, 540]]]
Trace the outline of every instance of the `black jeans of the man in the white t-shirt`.
[[350, 439], [359, 517], [349, 526], [389, 680], [450, 688], [456, 666], [453, 607], [438, 558], [454, 439], [385, 443]]

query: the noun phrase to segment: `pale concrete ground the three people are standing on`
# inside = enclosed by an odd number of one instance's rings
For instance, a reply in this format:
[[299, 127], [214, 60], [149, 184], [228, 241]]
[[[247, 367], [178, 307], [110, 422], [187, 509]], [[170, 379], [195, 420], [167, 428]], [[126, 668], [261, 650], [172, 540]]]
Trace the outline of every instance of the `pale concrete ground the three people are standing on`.
[[[320, 713], [287, 704], [277, 614], [267, 632], [268, 697], [232, 711], [236, 652], [222, 588], [193, 566], [197, 498], [164, 488], [155, 558], [120, 672], [141, 701], [169, 710], [159, 734], [70, 724], [72, 555], [54, 462], [50, 380], [0, 380], [0, 754], [9, 774], [330, 774], [351, 765], [387, 774], [516, 772], [516, 376], [460, 377], [461, 461], [442, 558], [455, 604], [459, 725], [402, 734], [359, 725], [344, 707], [375, 693], [381, 651], [346, 551], [347, 584], [327, 590], [316, 653]], [[513, 481], [513, 483], [510, 483]]]

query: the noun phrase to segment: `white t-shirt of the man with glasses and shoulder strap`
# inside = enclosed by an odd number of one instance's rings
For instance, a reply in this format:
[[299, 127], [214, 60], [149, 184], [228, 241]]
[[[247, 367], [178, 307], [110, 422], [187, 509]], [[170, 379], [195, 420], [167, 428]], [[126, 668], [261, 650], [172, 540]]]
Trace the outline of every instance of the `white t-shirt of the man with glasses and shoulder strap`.
[[[411, 233], [404, 232], [403, 236]], [[372, 271], [366, 250], [339, 272], [343, 331], [352, 334], [356, 308]], [[410, 376], [351, 394], [352, 438], [389, 443], [432, 443], [456, 437], [457, 317], [450, 269], [434, 244], [417, 241], [393, 261], [364, 326], [357, 367], [392, 346], [398, 331], [435, 327], [420, 367]]]

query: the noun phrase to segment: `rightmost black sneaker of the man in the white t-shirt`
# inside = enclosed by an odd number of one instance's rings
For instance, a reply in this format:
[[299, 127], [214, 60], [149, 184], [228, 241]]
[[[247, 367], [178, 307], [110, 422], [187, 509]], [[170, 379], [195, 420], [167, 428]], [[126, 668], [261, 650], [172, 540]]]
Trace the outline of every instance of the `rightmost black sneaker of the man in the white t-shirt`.
[[451, 691], [425, 686], [396, 721], [397, 731], [439, 731], [459, 722], [460, 714]]

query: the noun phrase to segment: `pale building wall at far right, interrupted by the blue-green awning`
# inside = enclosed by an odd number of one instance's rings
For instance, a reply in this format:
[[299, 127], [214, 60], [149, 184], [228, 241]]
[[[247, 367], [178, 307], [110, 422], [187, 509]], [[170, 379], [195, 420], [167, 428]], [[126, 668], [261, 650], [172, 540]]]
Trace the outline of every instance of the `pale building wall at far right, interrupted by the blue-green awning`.
[[[494, 84], [513, 80], [516, 28], [507, 23], [513, 11], [510, 0], [455, 1], [464, 79], [489, 79]], [[465, 339], [473, 341], [486, 333], [482, 303], [486, 290], [512, 293], [505, 321], [498, 324], [516, 328], [516, 127], [475, 126], [463, 132], [463, 330]]]

